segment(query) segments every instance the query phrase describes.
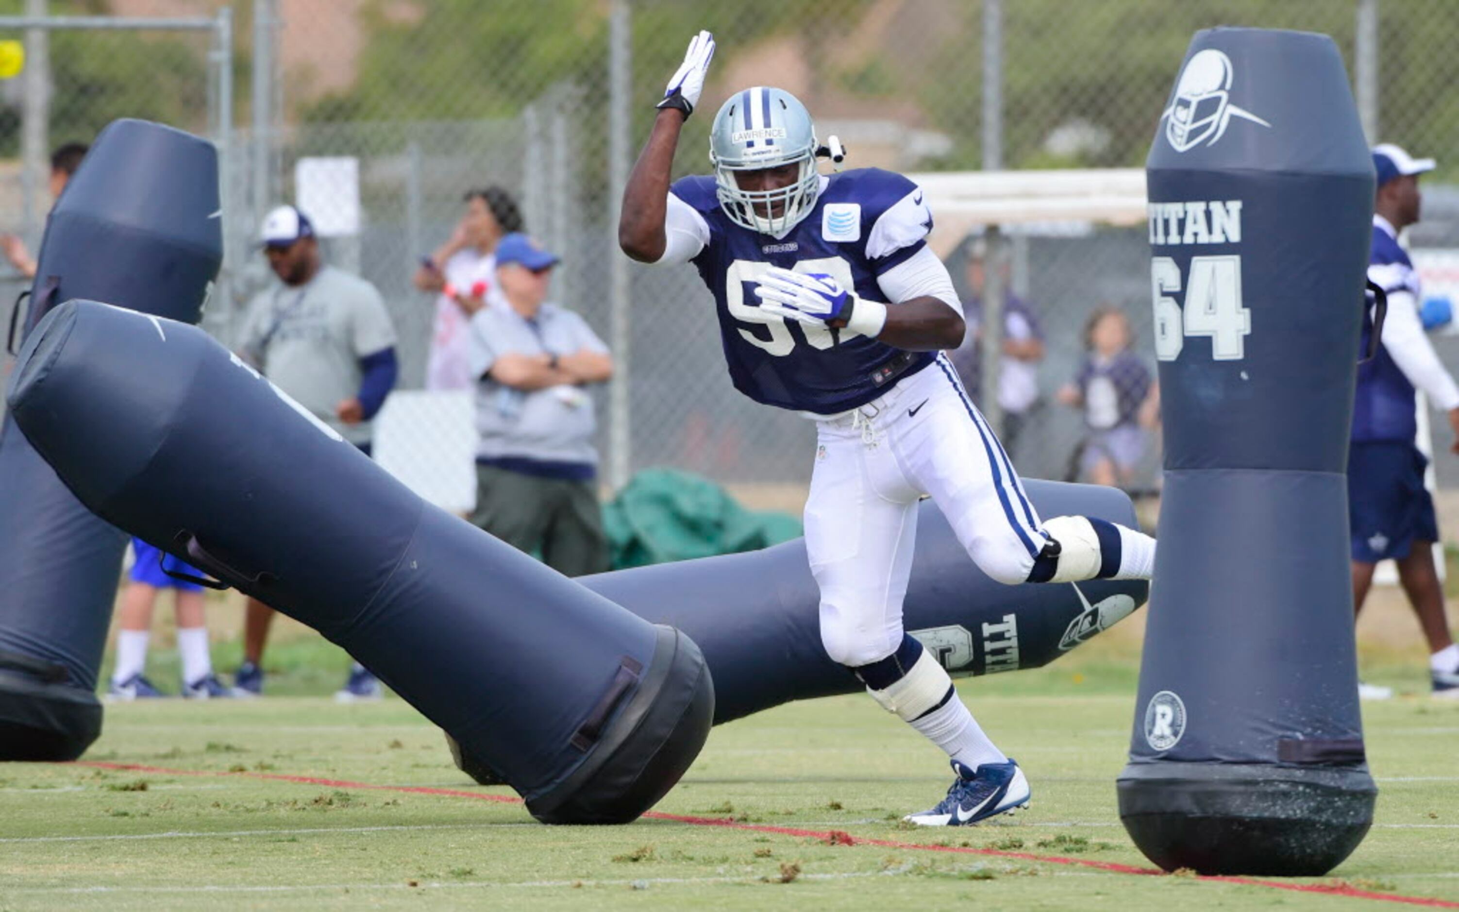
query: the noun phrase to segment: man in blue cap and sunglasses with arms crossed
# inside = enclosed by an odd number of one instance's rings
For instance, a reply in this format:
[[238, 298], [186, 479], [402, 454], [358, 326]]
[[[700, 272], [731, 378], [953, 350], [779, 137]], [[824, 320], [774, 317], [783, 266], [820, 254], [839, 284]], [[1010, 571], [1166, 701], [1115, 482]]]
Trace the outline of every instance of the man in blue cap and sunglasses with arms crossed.
[[496, 245], [506, 306], [471, 315], [477, 505], [471, 522], [568, 576], [608, 569], [587, 388], [613, 375], [608, 347], [547, 301], [557, 257], [524, 233]]

